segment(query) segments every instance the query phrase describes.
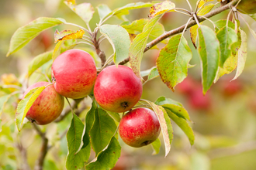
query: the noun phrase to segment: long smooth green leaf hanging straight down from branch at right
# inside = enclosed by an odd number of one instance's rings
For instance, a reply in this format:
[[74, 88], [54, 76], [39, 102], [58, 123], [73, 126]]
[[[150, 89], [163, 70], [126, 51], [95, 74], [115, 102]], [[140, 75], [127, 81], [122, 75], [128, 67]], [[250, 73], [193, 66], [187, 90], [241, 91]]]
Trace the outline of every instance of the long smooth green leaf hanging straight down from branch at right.
[[212, 29], [201, 26], [197, 46], [202, 63], [202, 91], [206, 93], [213, 84], [220, 63], [220, 42]]

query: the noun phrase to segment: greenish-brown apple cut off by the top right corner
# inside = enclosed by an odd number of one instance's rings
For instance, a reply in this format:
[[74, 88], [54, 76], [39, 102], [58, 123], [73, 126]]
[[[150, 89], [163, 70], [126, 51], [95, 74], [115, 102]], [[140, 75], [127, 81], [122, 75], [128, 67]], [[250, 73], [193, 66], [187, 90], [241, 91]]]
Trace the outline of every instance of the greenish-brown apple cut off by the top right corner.
[[237, 5], [237, 9], [242, 13], [254, 14], [256, 13], [256, 0], [242, 0]]

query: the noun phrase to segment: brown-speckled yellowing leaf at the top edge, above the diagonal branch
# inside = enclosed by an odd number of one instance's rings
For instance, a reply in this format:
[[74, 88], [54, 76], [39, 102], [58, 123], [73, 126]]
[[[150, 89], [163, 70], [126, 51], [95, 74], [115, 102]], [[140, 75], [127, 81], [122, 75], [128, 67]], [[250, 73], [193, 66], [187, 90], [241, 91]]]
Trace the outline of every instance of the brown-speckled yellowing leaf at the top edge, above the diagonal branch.
[[157, 3], [150, 8], [150, 19], [154, 18], [157, 15], [160, 15], [164, 12], [170, 11], [172, 8], [175, 8], [175, 3], [170, 1], [164, 1], [161, 3]]

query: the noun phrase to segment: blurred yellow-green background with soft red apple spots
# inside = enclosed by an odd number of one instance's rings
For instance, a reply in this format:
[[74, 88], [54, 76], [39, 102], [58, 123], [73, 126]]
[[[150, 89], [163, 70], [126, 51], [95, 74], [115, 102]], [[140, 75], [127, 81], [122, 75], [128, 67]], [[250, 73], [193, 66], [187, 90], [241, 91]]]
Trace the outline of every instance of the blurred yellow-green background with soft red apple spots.
[[[195, 8], [195, 0], [189, 0]], [[77, 1], [78, 3], [85, 1]], [[97, 0], [86, 1], [92, 3], [94, 7], [104, 3], [109, 8], [114, 9], [126, 5], [130, 2], [139, 1], [119, 1], [119, 0]], [[147, 1], [141, 1], [147, 2]], [[188, 8], [185, 0], [173, 0], [177, 7]], [[216, 2], [214, 2], [216, 3]], [[37, 36], [27, 46], [19, 52], [6, 57], [9, 49], [9, 42], [12, 34], [20, 26], [26, 25], [41, 16], [64, 18], [67, 22], [74, 22], [85, 26], [85, 23], [68, 8], [62, 0], [1, 0], [0, 1], [0, 75], [1, 83], [12, 83], [19, 85], [24, 80], [29, 62], [34, 56], [54, 49], [55, 29], [74, 29], [72, 26], [57, 26]], [[149, 8], [132, 10], [127, 19], [147, 18]], [[247, 22], [256, 31], [256, 22], [244, 15]], [[214, 16], [212, 19], [226, 19], [227, 12]], [[168, 13], [161, 19], [165, 30], [175, 29], [187, 22], [188, 17], [178, 13]], [[99, 22], [99, 15], [95, 8], [95, 14], [90, 22], [92, 29]], [[109, 24], [120, 24], [123, 21], [113, 17], [109, 19]], [[209, 22], [206, 25], [212, 26]], [[206, 96], [202, 95], [201, 73], [199, 56], [189, 38], [189, 31], [185, 32], [185, 37], [193, 52], [191, 64], [195, 65], [189, 69], [189, 76], [185, 81], [172, 92], [161, 79], [144, 85], [143, 98], [154, 101], [158, 97], [165, 96], [181, 102], [192, 119], [192, 128], [195, 132], [195, 145], [190, 146], [189, 140], [172, 122], [174, 128], [174, 140], [171, 144], [170, 154], [164, 158], [164, 145], [158, 155], [151, 155], [150, 146], [144, 148], [131, 148], [124, 145], [122, 141], [122, 154], [114, 169], [177, 169], [177, 170], [221, 170], [221, 169], [256, 169], [256, 40], [253, 39], [247, 26], [241, 22], [241, 27], [247, 32], [247, 62], [244, 73], [234, 81], [234, 73], [223, 76], [213, 84]], [[88, 46], [78, 46], [83, 48]], [[102, 42], [102, 50], [107, 56], [112, 54], [112, 48], [106, 40]], [[155, 66], [159, 50], [151, 49], [144, 54], [142, 70]], [[99, 59], [96, 59], [99, 61]], [[45, 69], [46, 70], [46, 69]], [[50, 73], [47, 73], [50, 76]], [[29, 83], [45, 80], [40, 73], [33, 73]], [[13, 89], [11, 89], [13, 90]], [[3, 93], [1, 92], [0, 95]], [[5, 105], [2, 114], [2, 129], [0, 132], [0, 169], [14, 170], [21, 169], [24, 162], [28, 162], [33, 167], [37, 155], [40, 152], [40, 137], [30, 124], [25, 124], [21, 132], [16, 130], [15, 112], [18, 100], [12, 97]], [[90, 108], [90, 101], [85, 99], [83, 107], [85, 110], [80, 117], [85, 117], [86, 111]], [[50, 144], [54, 145], [47, 154], [44, 163], [45, 170], [65, 169], [65, 158], [67, 155], [67, 141], [62, 138], [64, 132], [69, 128], [71, 116], [68, 116], [61, 123], [52, 123], [43, 126], [43, 131], [47, 131]], [[162, 140], [162, 137], [161, 137]]]

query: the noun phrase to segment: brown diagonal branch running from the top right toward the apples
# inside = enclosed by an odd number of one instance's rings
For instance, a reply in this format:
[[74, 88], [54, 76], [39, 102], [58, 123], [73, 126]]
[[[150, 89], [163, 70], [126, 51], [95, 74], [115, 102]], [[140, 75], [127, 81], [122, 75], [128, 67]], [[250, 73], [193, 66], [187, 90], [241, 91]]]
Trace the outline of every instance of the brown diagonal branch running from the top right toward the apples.
[[[231, 6], [234, 6], [235, 4], [237, 4], [238, 1], [239, 0], [234, 0], [234, 1], [230, 2], [230, 3], [228, 3], [227, 5], [223, 5], [223, 6], [219, 7], [219, 8], [216, 8], [213, 11], [207, 13], [206, 15], [203, 15], [202, 17], [198, 16], [197, 18], [198, 18], [199, 22], [202, 22], [202, 21], [206, 20], [206, 18], [209, 19], [209, 18], [213, 17], [214, 15], [217, 15], [217, 14], [220, 14], [221, 12], [223, 12], [223, 11], [226, 11]], [[195, 25], [196, 25], [196, 22], [195, 21], [191, 21], [191, 22], [189, 22], [189, 24], [187, 26], [187, 29], [189, 29], [190, 27], [195, 26]], [[185, 26], [186, 26], [186, 24], [183, 25], [183, 26], [178, 27], [177, 29], [172, 29], [171, 31], [164, 32], [164, 34], [162, 34], [161, 36], [157, 37], [157, 39], [154, 39], [153, 41], [147, 43], [147, 46], [144, 49], [144, 53], [147, 52], [147, 50], [149, 50], [153, 46], [157, 45], [157, 43], [163, 41], [164, 39], [167, 39], [170, 36], [174, 36], [174, 35], [176, 35], [178, 33], [183, 32], [183, 30], [185, 29]], [[119, 64], [123, 65], [123, 64], [128, 63], [128, 62], [129, 62], [129, 57], [124, 59], [121, 62], [122, 64], [121, 63], [119, 63]], [[112, 62], [109, 65], [113, 65], [113, 64], [114, 63]]]

